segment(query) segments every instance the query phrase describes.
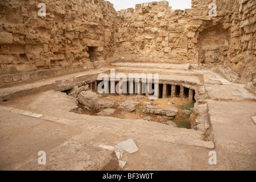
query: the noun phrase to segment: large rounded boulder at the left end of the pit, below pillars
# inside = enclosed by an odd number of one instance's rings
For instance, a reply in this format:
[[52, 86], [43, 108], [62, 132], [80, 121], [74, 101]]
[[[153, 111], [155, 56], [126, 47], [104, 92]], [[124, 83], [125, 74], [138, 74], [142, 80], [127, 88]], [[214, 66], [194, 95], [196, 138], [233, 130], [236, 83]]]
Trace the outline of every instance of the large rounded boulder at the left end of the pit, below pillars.
[[95, 101], [98, 100], [98, 95], [92, 91], [83, 91], [79, 94], [77, 101], [84, 105], [86, 109], [90, 109]]

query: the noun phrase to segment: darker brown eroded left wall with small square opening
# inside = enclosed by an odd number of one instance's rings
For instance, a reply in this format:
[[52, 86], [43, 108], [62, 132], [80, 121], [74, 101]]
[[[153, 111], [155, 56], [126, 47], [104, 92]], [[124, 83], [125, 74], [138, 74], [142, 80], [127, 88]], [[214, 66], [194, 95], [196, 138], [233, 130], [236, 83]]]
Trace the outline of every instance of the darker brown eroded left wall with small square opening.
[[[39, 3], [46, 5], [45, 17], [38, 15]], [[3, 77], [3, 85], [92, 68], [88, 47], [97, 60], [108, 59], [115, 17], [106, 1], [0, 1], [0, 74], [16, 74]], [[23, 74], [36, 71], [41, 75]]]

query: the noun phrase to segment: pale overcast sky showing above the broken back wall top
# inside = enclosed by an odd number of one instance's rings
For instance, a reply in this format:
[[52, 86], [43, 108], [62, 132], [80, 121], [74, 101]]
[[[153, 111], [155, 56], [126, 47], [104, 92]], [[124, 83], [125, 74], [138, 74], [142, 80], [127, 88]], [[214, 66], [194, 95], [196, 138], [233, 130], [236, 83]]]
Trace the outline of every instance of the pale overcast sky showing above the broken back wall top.
[[[115, 10], [119, 11], [122, 9], [127, 9], [129, 7], [135, 8], [135, 5], [143, 2], [153, 2], [153, 1], [162, 1], [162, 0], [106, 0], [114, 4]], [[191, 0], [168, 0], [169, 6], [172, 9], [191, 9]]]

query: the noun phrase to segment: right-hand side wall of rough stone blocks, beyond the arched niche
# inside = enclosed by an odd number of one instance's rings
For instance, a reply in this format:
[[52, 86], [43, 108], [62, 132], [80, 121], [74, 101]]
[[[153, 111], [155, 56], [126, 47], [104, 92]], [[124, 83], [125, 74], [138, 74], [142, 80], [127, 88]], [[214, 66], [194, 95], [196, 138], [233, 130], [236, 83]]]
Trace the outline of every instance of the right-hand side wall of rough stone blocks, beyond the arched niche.
[[236, 0], [230, 28], [230, 67], [241, 82], [256, 82], [256, 1]]

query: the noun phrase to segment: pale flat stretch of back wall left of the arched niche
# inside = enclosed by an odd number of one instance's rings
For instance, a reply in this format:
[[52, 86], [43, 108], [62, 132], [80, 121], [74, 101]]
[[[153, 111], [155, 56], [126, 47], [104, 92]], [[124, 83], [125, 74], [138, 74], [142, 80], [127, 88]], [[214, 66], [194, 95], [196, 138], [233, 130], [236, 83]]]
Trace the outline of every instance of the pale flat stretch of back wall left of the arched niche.
[[142, 3], [118, 11], [117, 51], [133, 59], [197, 63], [189, 31], [189, 10], [174, 11], [167, 1]]

